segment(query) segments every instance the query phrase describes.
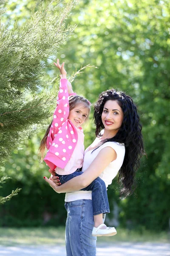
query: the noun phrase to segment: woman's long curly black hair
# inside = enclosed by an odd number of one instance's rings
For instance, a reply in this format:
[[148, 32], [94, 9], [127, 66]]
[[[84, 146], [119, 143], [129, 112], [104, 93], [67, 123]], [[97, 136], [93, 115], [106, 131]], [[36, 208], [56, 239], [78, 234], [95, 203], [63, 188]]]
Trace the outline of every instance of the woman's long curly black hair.
[[114, 89], [102, 92], [94, 105], [94, 119], [96, 124], [96, 137], [101, 137], [100, 131], [105, 128], [102, 123], [102, 112], [105, 102], [116, 100], [124, 113], [121, 128], [111, 139], [103, 140], [103, 143], [114, 141], [125, 144], [125, 158], [119, 170], [119, 182], [123, 188], [121, 195], [125, 197], [133, 193], [134, 177], [139, 168], [140, 159], [144, 153], [142, 140], [142, 125], [139, 122], [136, 105], [130, 96]]

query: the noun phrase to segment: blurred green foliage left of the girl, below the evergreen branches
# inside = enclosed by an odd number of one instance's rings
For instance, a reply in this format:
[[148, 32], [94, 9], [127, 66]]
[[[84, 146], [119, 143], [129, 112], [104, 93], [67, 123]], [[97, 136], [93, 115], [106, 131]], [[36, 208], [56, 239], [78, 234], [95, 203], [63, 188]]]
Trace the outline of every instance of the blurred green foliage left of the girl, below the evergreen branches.
[[8, 195], [16, 186], [22, 190], [1, 208], [0, 226], [30, 227], [47, 222], [54, 226], [65, 224], [65, 195], [57, 195], [45, 182], [43, 176], [50, 177], [48, 167], [37, 157], [42, 136], [41, 132], [32, 139], [28, 137], [23, 148], [15, 150], [2, 168], [1, 175], [11, 177], [10, 183], [3, 186], [3, 195]]

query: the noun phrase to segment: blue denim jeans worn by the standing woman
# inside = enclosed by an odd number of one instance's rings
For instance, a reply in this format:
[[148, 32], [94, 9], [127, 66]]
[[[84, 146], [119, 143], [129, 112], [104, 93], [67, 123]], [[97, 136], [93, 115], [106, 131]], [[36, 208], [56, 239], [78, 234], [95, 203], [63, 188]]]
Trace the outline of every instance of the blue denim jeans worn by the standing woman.
[[81, 199], [65, 202], [67, 221], [65, 227], [65, 245], [67, 256], [96, 256], [96, 236], [92, 236], [94, 227], [92, 200]]

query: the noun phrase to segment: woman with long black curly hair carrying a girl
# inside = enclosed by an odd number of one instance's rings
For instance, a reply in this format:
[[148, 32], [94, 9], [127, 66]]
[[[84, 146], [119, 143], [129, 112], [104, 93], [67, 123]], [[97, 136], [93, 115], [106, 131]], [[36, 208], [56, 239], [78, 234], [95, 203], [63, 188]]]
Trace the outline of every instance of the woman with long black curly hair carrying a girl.
[[[114, 89], [101, 93], [95, 103], [94, 119], [96, 139], [85, 150], [83, 174], [61, 186], [57, 186], [57, 177], [53, 176], [49, 180], [45, 177], [56, 192], [67, 192], [67, 256], [96, 255], [96, 237], [91, 235], [94, 225], [91, 192], [79, 190], [96, 177], [102, 178], [108, 186], [119, 173], [119, 181], [123, 186], [121, 194], [130, 195], [139, 160], [144, 154], [142, 126], [130, 96]], [[55, 173], [52, 172], [52, 175]]]

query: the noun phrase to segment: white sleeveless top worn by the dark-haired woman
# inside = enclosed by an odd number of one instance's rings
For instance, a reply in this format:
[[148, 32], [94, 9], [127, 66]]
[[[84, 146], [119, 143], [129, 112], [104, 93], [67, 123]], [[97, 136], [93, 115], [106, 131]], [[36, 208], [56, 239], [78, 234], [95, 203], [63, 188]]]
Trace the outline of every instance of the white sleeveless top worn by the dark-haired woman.
[[[99, 140], [99, 138], [96, 138]], [[96, 144], [97, 141], [95, 140]], [[99, 175], [99, 177], [104, 180], [106, 187], [112, 183], [114, 177], [116, 177], [119, 169], [123, 164], [123, 160], [125, 157], [125, 145], [117, 142], [107, 142], [101, 145], [99, 148], [96, 148], [94, 151], [88, 151], [86, 148], [84, 153], [84, 162], [82, 166], [82, 172], [88, 169], [93, 160], [96, 158], [97, 154], [102, 148], [111, 147], [116, 151], [117, 157], [114, 161], [112, 161], [105, 170]], [[90, 199], [91, 200], [91, 191], [75, 191], [75, 192], [67, 192], [65, 194], [65, 202], [76, 201], [80, 199]]]

